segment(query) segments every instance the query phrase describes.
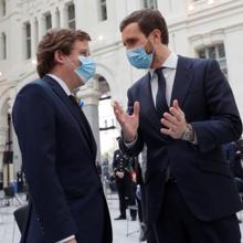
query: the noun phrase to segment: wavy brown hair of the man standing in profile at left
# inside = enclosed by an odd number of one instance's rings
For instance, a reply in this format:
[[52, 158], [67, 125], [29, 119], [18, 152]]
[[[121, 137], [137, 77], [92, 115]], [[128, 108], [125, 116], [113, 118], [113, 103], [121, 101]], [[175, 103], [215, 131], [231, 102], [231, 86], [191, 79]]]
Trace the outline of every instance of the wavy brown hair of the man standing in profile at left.
[[91, 41], [91, 36], [81, 30], [54, 29], [49, 31], [38, 46], [38, 73], [43, 77], [55, 66], [54, 53], [61, 51], [68, 55], [75, 41]]

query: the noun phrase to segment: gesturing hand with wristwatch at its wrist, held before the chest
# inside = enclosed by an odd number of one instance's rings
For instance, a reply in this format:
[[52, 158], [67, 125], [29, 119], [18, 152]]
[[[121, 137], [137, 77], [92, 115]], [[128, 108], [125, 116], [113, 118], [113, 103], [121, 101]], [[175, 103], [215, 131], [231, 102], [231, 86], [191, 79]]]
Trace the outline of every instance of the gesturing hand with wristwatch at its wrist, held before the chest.
[[167, 127], [161, 128], [160, 131], [175, 139], [181, 139], [188, 127], [184, 113], [179, 107], [178, 101], [173, 101], [173, 105], [169, 108], [169, 113], [163, 113], [163, 118], [161, 118], [160, 122]]

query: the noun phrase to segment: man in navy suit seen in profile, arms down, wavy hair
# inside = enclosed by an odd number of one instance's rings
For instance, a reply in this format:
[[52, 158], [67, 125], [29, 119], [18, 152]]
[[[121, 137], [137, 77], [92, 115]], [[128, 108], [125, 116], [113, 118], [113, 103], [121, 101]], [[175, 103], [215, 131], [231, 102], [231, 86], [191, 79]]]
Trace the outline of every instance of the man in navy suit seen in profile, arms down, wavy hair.
[[72, 92], [95, 73], [89, 35], [53, 30], [38, 47], [41, 80], [25, 85], [13, 125], [30, 191], [24, 243], [112, 243], [96, 144]]

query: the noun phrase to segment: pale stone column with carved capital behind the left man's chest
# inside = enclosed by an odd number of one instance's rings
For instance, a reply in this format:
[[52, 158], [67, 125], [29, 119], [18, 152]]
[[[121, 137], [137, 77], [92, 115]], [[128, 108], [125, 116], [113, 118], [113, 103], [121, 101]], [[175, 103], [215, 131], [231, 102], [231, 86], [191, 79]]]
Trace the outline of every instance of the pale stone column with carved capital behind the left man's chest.
[[98, 124], [98, 101], [102, 93], [98, 82], [93, 80], [82, 86], [77, 92], [77, 97], [84, 102], [83, 112], [92, 127], [92, 131], [97, 144], [96, 161], [101, 162], [101, 145], [99, 145], [99, 124]]

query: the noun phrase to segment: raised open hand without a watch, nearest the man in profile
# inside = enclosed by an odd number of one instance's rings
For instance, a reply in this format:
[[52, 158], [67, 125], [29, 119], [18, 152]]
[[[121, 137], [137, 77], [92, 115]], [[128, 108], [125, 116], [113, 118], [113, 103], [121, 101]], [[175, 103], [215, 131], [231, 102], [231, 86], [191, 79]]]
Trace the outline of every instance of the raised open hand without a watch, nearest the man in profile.
[[114, 113], [123, 129], [124, 139], [127, 142], [134, 141], [137, 137], [137, 129], [139, 125], [139, 102], [134, 103], [133, 115], [128, 115], [126, 112], [123, 110], [122, 106], [117, 102], [114, 102]]

